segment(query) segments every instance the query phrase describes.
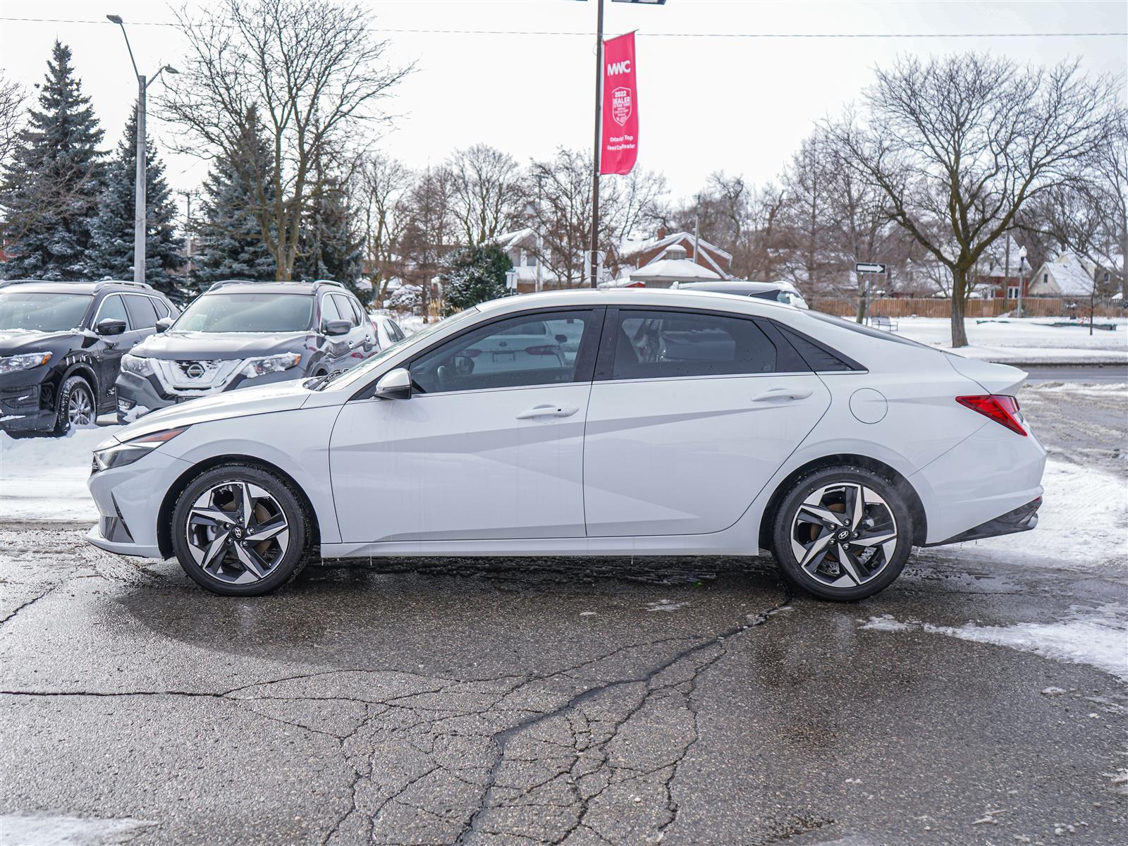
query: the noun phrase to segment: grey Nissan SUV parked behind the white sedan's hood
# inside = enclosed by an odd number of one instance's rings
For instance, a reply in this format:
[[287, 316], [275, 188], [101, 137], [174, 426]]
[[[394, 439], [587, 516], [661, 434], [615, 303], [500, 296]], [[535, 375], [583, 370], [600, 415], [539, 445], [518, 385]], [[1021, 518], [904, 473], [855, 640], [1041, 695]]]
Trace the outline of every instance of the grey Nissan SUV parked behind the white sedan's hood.
[[377, 329], [337, 282], [217, 282], [122, 360], [124, 420], [186, 399], [347, 370]]

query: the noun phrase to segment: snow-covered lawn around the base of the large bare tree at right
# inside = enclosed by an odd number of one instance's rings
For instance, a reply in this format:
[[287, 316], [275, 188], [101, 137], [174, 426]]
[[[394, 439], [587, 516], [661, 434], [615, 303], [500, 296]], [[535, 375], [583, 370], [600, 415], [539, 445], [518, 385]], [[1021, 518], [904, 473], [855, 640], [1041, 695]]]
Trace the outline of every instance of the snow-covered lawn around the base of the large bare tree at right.
[[976, 323], [967, 318], [968, 346], [952, 350], [951, 323], [938, 317], [896, 318], [898, 334], [922, 344], [938, 346], [969, 359], [1024, 364], [1128, 363], [1128, 321], [1123, 318], [1098, 318], [1096, 324], [1113, 323], [1113, 332], [1079, 326], [1051, 326], [1054, 318], [1025, 317]]

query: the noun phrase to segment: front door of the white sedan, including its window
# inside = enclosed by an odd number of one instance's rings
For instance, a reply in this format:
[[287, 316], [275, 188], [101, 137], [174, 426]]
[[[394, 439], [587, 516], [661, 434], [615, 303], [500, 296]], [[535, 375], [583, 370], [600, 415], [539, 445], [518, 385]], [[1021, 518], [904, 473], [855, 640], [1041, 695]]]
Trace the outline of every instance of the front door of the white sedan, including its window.
[[[525, 338], [546, 321], [572, 327], [574, 355], [527, 351], [545, 347]], [[342, 539], [583, 537], [601, 321], [598, 308], [500, 318], [417, 355], [409, 399], [346, 403], [329, 444]], [[521, 354], [514, 343], [526, 343]]]

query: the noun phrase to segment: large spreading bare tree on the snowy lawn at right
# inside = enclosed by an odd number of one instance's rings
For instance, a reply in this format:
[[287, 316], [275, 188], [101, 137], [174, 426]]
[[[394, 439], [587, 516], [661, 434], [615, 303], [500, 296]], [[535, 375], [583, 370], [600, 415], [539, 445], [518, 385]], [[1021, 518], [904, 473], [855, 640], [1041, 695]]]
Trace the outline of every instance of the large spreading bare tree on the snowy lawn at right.
[[967, 53], [878, 70], [864, 115], [828, 122], [885, 213], [952, 274], [952, 345], [964, 346], [971, 270], [1016, 212], [1076, 174], [1108, 138], [1118, 81], [1076, 62], [1020, 69]]

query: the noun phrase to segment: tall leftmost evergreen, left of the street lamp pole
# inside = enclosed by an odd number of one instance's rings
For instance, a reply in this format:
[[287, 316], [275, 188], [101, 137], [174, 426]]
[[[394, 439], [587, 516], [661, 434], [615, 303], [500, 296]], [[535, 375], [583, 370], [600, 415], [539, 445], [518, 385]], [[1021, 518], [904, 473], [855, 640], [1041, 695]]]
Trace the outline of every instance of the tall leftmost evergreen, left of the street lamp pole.
[[55, 42], [38, 88], [39, 108], [30, 112], [0, 186], [11, 256], [0, 275], [82, 279], [103, 188], [103, 132], [74, 77], [70, 47]]

